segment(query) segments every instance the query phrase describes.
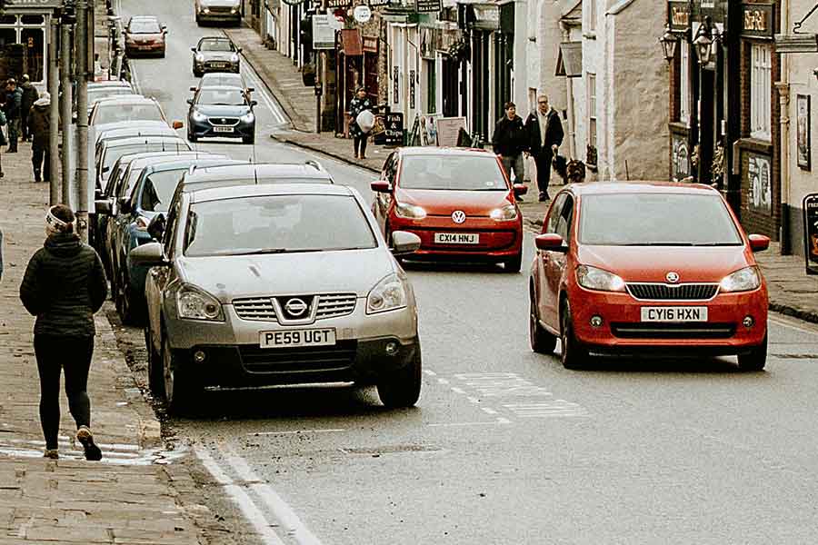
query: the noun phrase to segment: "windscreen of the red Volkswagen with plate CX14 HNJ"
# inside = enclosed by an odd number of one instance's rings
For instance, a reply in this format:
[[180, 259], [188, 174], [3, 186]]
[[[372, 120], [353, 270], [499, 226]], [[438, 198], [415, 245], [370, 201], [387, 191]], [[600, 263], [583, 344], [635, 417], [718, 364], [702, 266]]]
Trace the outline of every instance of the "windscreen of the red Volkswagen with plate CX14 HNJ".
[[494, 155], [407, 155], [401, 163], [404, 189], [508, 191]]

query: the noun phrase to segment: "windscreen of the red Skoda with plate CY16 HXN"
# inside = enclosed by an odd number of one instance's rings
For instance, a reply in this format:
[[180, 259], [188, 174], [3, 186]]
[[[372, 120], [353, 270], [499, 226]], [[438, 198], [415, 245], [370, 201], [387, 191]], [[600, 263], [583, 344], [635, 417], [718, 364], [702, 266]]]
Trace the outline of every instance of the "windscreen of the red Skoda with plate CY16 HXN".
[[602, 246], [743, 244], [719, 195], [690, 193], [584, 195], [579, 240]]

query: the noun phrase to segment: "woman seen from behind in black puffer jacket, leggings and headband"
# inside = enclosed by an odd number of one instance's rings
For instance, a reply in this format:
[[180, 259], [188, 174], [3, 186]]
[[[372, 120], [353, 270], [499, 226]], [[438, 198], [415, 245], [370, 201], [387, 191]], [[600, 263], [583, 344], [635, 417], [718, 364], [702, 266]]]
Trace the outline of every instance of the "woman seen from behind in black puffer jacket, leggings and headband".
[[76, 440], [85, 460], [101, 460], [91, 433], [91, 401], [87, 384], [94, 354], [94, 314], [108, 294], [102, 261], [94, 248], [80, 241], [76, 216], [65, 206], [45, 215], [45, 244], [25, 270], [20, 299], [37, 317], [35, 356], [40, 374], [40, 423], [45, 458], [59, 458], [60, 374], [65, 370], [65, 394], [76, 422]]

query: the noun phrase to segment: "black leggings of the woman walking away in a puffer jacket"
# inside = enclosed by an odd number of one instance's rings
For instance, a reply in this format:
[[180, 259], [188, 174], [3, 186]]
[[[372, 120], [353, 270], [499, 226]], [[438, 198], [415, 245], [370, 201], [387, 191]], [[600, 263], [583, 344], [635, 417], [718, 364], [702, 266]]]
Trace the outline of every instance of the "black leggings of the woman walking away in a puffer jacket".
[[76, 427], [91, 425], [91, 400], [85, 391], [94, 354], [94, 337], [35, 335], [40, 372], [40, 423], [45, 448], [57, 448], [60, 430], [60, 373], [65, 369], [65, 394]]

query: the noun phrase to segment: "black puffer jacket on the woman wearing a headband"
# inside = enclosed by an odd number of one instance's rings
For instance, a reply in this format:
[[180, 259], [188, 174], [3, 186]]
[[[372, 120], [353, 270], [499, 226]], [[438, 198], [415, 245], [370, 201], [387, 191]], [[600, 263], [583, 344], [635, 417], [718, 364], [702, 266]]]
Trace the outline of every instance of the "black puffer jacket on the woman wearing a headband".
[[93, 336], [94, 313], [107, 296], [99, 255], [74, 233], [49, 236], [28, 262], [20, 286], [25, 310], [37, 317], [38, 335]]

